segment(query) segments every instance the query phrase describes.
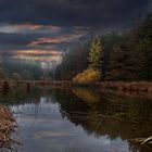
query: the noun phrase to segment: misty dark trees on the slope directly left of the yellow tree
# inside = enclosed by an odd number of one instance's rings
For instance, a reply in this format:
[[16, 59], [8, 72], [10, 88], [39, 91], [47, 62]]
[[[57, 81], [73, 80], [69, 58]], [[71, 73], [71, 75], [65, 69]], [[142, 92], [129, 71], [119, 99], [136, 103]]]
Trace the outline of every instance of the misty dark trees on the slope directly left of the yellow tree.
[[62, 63], [55, 69], [55, 79], [72, 79], [88, 66], [89, 43], [86, 42], [84, 46], [77, 46], [77, 48], [64, 54]]

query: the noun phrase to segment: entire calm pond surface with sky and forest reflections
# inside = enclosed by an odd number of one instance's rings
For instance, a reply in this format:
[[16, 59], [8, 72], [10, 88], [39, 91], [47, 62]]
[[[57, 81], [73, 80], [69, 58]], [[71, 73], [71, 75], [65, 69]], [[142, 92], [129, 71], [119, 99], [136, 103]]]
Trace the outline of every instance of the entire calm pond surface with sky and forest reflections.
[[129, 139], [152, 136], [152, 100], [97, 90], [33, 90], [1, 98], [23, 142], [18, 152], [152, 152]]

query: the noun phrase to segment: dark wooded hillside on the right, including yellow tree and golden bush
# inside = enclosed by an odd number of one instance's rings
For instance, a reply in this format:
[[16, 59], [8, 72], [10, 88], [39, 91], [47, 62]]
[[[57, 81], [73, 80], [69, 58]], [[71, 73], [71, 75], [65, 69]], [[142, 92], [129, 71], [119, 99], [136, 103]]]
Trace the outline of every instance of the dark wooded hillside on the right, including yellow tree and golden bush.
[[94, 37], [84, 46], [66, 52], [56, 67], [54, 78], [151, 80], [152, 13], [128, 33]]

